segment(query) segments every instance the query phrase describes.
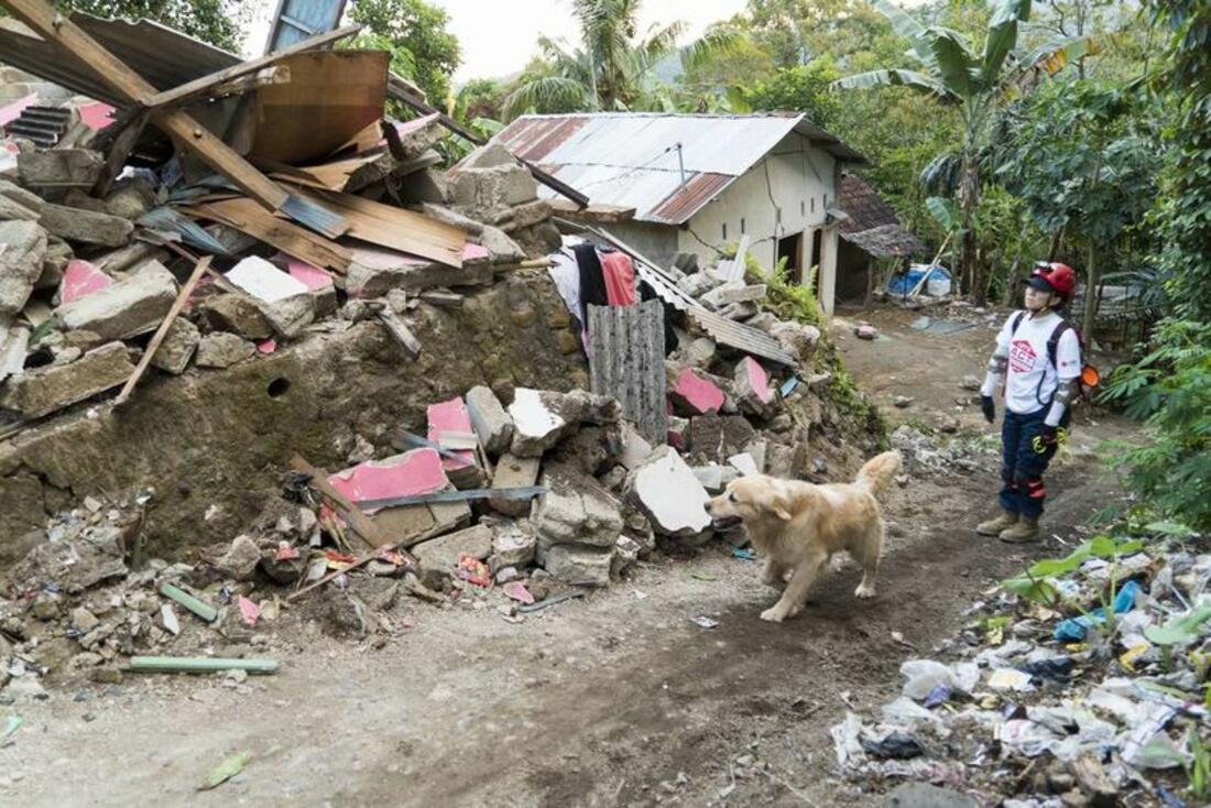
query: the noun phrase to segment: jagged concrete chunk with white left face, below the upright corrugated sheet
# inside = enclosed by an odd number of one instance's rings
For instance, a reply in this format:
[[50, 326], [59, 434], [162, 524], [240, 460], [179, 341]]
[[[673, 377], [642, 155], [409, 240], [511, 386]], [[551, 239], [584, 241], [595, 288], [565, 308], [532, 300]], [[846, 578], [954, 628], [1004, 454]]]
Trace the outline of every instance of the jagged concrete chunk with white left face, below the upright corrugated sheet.
[[618, 423], [620, 407], [614, 399], [584, 390], [562, 394], [517, 388], [509, 414], [513, 419], [512, 453], [517, 457], [541, 457], [584, 422]]

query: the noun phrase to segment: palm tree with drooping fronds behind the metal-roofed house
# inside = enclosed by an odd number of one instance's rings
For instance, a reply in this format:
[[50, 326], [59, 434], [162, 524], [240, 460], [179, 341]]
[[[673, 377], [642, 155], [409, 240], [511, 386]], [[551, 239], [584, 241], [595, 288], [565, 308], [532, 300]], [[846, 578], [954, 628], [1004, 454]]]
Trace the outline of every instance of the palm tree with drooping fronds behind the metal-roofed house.
[[687, 23], [653, 25], [638, 38], [642, 0], [572, 0], [581, 47], [539, 38], [540, 58], [530, 63], [505, 99], [504, 116], [660, 108], [654, 68], [671, 53], [694, 64], [730, 46], [737, 33], [712, 27], [702, 38], [678, 48]]

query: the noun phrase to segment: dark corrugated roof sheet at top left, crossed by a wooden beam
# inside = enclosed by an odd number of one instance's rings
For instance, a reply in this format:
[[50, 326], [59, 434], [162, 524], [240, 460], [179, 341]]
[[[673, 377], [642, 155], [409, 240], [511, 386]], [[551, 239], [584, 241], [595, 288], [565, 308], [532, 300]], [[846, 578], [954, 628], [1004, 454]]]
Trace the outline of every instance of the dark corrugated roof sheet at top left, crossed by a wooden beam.
[[[156, 90], [171, 90], [241, 62], [235, 53], [149, 19], [132, 23], [79, 11], [70, 19]], [[91, 98], [117, 105], [126, 103], [97, 79], [92, 68], [16, 19], [0, 19], [0, 62]]]

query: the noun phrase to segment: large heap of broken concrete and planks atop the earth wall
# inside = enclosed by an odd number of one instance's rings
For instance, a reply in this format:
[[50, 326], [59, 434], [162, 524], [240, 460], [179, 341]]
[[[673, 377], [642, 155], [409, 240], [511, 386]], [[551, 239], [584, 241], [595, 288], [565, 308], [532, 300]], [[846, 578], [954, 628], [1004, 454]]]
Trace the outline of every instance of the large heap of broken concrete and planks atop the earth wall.
[[117, 386], [125, 401], [144, 373], [222, 369], [371, 317], [415, 355], [421, 300], [457, 306], [459, 290], [558, 243], [507, 153], [483, 150], [448, 188], [444, 119], [386, 115], [384, 52], [287, 51], [127, 105], [78, 99], [53, 148], [10, 134], [0, 431]]

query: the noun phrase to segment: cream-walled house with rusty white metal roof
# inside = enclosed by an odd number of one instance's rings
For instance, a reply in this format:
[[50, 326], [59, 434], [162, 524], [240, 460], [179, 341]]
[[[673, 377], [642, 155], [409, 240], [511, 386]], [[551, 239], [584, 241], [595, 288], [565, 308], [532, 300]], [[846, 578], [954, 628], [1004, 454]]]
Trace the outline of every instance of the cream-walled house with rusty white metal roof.
[[527, 115], [494, 139], [589, 196], [576, 216], [653, 262], [684, 252], [706, 265], [747, 236], [767, 269], [786, 257], [802, 280], [819, 267], [832, 311], [842, 167], [865, 159], [804, 116]]

